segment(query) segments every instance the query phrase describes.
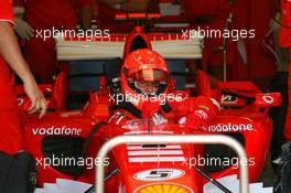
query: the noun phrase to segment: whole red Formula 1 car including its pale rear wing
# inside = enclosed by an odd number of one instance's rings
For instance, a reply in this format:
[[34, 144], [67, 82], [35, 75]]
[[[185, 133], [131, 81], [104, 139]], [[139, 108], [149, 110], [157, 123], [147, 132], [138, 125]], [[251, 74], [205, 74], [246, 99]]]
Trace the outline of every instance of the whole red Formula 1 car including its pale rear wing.
[[[107, 140], [123, 135], [134, 137], [137, 133], [229, 136], [245, 147], [250, 181], [257, 181], [272, 135], [272, 121], [267, 111], [269, 107], [280, 104], [280, 95], [261, 94], [250, 82], [218, 83], [213, 89], [208, 76], [203, 72], [197, 73], [196, 95], [214, 97], [223, 106], [217, 117], [202, 131], [194, 132], [183, 126], [170, 124], [149, 128], [144, 120], [130, 120], [125, 127], [106, 124], [110, 116], [110, 92], [118, 89], [116, 72], [121, 60], [115, 60], [116, 57], [122, 57], [137, 49], [151, 47], [161, 52], [165, 58], [198, 58], [202, 56], [200, 41], [185, 41], [182, 34], [144, 34], [139, 28], [129, 35], [115, 34], [110, 40], [103, 41], [97, 39], [87, 46], [79, 39], [58, 40], [58, 56], [62, 60], [82, 57], [106, 61], [105, 74], [109, 87], [106, 88], [101, 83], [98, 92], [90, 93], [83, 109], [48, 112], [43, 119], [35, 115], [23, 117], [24, 146], [37, 161], [39, 185], [54, 183], [56, 179], [93, 184], [96, 164], [106, 165], [108, 193], [203, 192], [203, 185], [207, 181], [194, 165], [202, 165], [204, 173], [209, 173], [214, 179], [238, 173], [237, 156], [229, 148], [219, 144], [127, 144], [114, 149], [105, 160], [96, 158], [99, 148]], [[183, 50], [176, 50], [175, 45]], [[88, 52], [90, 46], [103, 50]], [[79, 56], [67, 53], [67, 47], [76, 49]]]

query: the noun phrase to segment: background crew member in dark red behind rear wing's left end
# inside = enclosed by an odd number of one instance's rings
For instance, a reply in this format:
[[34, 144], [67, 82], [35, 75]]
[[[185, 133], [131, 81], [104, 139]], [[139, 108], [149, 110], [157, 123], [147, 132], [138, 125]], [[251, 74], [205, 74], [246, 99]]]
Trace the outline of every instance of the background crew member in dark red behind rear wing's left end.
[[[28, 40], [24, 45], [24, 57], [33, 74], [43, 83], [51, 83], [57, 71], [55, 41], [44, 41], [37, 32], [44, 30], [74, 30], [77, 25], [75, 8], [86, 15], [83, 28], [89, 28], [91, 0], [15, 0], [14, 13], [18, 17], [15, 31]], [[21, 14], [23, 18], [21, 18]]]

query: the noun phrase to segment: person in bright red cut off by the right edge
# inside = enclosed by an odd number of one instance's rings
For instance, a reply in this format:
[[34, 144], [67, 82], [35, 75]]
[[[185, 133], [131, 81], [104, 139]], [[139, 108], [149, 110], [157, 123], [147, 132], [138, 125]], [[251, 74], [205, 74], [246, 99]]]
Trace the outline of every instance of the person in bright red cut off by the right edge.
[[[287, 47], [289, 50], [289, 56], [291, 58], [291, 0], [281, 0], [280, 44], [282, 47]], [[284, 136], [287, 139], [291, 139], [291, 61], [289, 61], [288, 79], [289, 105]]]

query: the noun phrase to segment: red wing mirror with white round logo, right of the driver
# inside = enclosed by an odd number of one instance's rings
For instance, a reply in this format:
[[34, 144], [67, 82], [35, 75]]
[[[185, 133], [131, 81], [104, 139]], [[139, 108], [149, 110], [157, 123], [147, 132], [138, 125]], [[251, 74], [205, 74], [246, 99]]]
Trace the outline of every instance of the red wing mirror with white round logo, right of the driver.
[[257, 94], [255, 105], [259, 107], [278, 107], [281, 105], [280, 93]]

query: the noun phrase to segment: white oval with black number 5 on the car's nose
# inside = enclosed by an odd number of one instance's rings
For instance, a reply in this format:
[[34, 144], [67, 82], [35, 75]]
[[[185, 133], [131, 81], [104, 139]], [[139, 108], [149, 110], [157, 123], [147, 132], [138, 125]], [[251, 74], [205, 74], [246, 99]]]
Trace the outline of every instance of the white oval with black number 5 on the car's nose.
[[185, 172], [179, 169], [153, 169], [136, 173], [134, 179], [140, 181], [165, 181], [181, 178], [184, 174]]

